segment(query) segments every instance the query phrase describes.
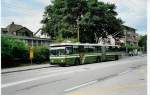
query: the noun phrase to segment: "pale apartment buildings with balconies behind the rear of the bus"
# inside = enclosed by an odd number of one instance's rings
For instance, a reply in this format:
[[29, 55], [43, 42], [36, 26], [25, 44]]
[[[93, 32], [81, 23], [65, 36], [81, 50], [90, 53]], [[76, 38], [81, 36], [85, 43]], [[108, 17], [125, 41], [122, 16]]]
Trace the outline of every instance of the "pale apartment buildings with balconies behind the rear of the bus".
[[124, 25], [123, 33], [124, 36], [122, 38], [115, 37], [112, 35], [108, 35], [107, 38], [100, 37], [98, 43], [99, 44], [115, 43], [116, 45], [127, 44], [127, 45], [138, 46], [139, 35], [136, 33], [136, 29]]

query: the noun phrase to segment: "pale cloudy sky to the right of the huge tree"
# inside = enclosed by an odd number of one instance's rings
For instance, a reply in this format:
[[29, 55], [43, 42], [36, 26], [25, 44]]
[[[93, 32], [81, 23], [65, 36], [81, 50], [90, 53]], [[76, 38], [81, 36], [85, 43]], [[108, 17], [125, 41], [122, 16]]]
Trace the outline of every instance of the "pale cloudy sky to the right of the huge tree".
[[116, 11], [129, 27], [137, 29], [137, 32], [147, 32], [147, 0], [100, 0], [114, 3]]

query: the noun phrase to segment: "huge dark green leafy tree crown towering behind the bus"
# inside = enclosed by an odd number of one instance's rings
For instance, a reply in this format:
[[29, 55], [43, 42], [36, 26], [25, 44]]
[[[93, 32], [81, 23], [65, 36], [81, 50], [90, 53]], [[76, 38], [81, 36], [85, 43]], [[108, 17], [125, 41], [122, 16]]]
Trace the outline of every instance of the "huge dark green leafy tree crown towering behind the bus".
[[98, 0], [54, 0], [45, 9], [42, 29], [54, 40], [76, 39], [78, 31], [80, 42], [95, 43], [114, 33], [120, 37], [123, 22], [115, 8]]

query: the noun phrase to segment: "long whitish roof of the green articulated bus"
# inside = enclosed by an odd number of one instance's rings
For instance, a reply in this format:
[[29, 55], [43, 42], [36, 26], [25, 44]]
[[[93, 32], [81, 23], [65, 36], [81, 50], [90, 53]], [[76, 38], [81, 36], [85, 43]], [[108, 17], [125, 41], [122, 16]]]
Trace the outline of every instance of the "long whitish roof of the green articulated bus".
[[90, 44], [90, 43], [56, 43], [50, 44], [50, 47], [55, 46], [118, 46], [118, 45], [101, 45], [101, 44]]

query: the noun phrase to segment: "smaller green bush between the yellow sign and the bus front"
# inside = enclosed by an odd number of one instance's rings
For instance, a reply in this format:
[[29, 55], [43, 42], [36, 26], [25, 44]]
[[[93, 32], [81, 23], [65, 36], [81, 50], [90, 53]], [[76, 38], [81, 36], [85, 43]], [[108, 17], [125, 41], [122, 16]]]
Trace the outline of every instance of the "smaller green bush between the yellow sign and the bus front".
[[41, 63], [49, 60], [49, 49], [46, 46], [34, 47], [34, 63]]

